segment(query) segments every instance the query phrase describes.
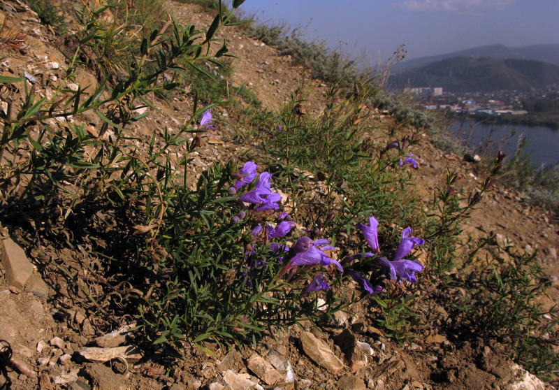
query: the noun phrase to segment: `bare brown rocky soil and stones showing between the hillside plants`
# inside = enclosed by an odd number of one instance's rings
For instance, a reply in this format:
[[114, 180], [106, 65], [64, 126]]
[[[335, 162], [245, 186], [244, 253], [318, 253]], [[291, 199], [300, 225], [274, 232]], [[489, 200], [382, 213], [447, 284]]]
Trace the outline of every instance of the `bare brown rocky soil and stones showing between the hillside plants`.
[[[168, 1], [170, 12], [180, 22], [208, 26], [213, 15], [200, 6]], [[34, 78], [36, 93], [48, 96], [50, 85], [63, 77], [64, 47], [52, 30], [20, 1], [3, 1], [0, 22], [24, 34], [21, 48], [0, 49], [0, 74]], [[310, 80], [303, 68], [289, 57], [250, 38], [247, 30], [228, 30], [228, 47], [238, 58], [230, 82], [246, 85], [265, 106], [279, 109], [295, 89], [303, 90], [308, 110], [316, 113], [324, 104], [326, 85]], [[27, 77], [27, 76], [26, 76]], [[29, 77], [28, 77], [29, 79]], [[75, 80], [91, 85], [98, 80], [82, 71]], [[4, 104], [4, 103], [3, 103]], [[159, 111], [138, 122], [138, 138], [149, 142], [153, 129], [180, 127], [191, 112], [190, 99], [177, 96], [170, 103], [156, 101]], [[6, 108], [6, 107], [3, 107]], [[227, 161], [247, 148], [233, 142], [228, 127], [234, 118], [216, 109], [218, 128], [196, 152], [193, 164], [203, 170], [215, 161]], [[99, 118], [79, 115], [68, 120], [96, 131]], [[379, 115], [379, 121], [389, 117]], [[64, 123], [52, 121], [52, 127]], [[242, 131], [236, 129], [235, 131]], [[138, 147], [145, 147], [138, 141]], [[177, 160], [184, 150], [177, 150]], [[417, 190], [426, 198], [444, 181], [445, 168], [460, 173], [458, 187], [467, 194], [479, 187], [483, 174], [477, 164], [438, 150], [423, 134], [414, 150], [421, 161], [416, 174]], [[195, 178], [193, 178], [194, 180]], [[21, 219], [27, 218], [20, 216]], [[30, 224], [32, 221], [29, 222]], [[36, 231], [40, 231], [34, 226]], [[530, 205], [523, 194], [496, 188], [465, 222], [465, 231], [478, 236], [493, 231], [526, 250], [538, 250], [553, 289], [546, 305], [559, 303], [559, 225], [551, 213]], [[114, 326], [103, 335], [83, 305], [74, 286], [45, 263], [45, 256], [66, 259], [68, 269], [84, 272], [94, 259], [50, 248], [26, 245], [25, 235], [6, 226], [1, 231], [0, 251], [0, 389], [544, 389], [549, 384], [507, 360], [503, 347], [481, 340], [451, 342], [433, 333], [415, 342], [398, 345], [368, 322], [365, 304], [354, 315], [340, 313], [330, 326], [310, 324], [293, 327], [288, 334], [259, 340], [256, 346], [208, 346], [214, 355], [191, 345], [184, 359], [144, 356], [133, 347], [133, 331]], [[24, 248], [24, 252], [21, 250]], [[87, 248], [86, 248], [87, 249]], [[87, 252], [87, 251], [86, 251]], [[86, 261], [87, 260], [87, 261]], [[74, 268], [71, 268], [74, 267]], [[79, 268], [79, 270], [78, 270]], [[39, 272], [41, 271], [41, 272]], [[87, 270], [85, 271], [87, 274]], [[70, 298], [72, 297], [72, 299]], [[126, 323], [119, 319], [120, 324]], [[129, 324], [131, 325], [131, 324]], [[171, 363], [170, 363], [171, 362]]]

